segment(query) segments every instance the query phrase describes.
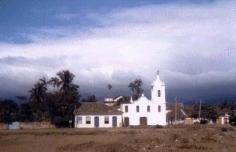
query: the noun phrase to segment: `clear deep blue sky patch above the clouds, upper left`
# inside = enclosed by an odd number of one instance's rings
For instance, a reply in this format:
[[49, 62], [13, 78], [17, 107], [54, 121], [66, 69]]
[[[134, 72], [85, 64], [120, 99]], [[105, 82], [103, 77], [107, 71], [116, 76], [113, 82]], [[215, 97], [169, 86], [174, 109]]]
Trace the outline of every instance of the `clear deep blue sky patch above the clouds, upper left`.
[[[30, 42], [25, 37], [37, 28], [88, 28], [99, 26], [99, 23], [89, 18], [89, 13], [108, 13], [114, 9], [138, 7], [144, 5], [166, 4], [207, 4], [212, 0], [1, 0], [0, 1], [0, 40], [14, 43]], [[63, 15], [70, 19], [62, 20]], [[73, 18], [73, 14], [78, 16]], [[60, 18], [61, 15], [61, 18]], [[65, 18], [64, 18], [65, 19]]]

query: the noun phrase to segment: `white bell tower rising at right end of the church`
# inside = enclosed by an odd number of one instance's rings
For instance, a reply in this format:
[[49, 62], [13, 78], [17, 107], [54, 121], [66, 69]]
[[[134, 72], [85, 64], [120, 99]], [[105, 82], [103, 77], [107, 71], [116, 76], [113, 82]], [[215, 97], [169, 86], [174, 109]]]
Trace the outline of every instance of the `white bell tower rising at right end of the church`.
[[156, 80], [152, 83], [151, 89], [151, 100], [152, 102], [165, 103], [165, 83], [160, 79], [160, 71], [157, 71]]

